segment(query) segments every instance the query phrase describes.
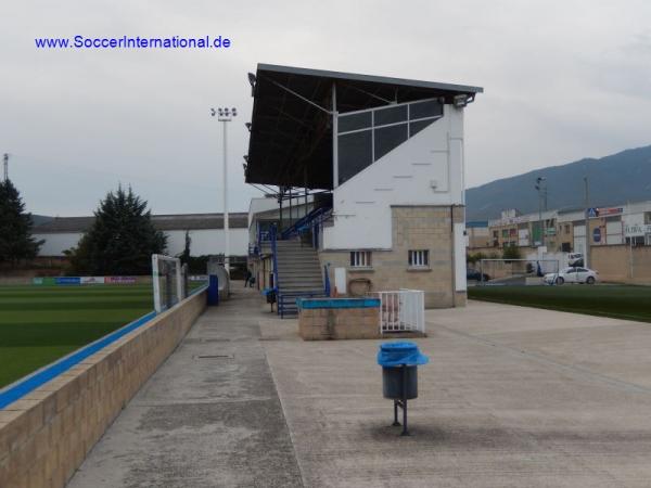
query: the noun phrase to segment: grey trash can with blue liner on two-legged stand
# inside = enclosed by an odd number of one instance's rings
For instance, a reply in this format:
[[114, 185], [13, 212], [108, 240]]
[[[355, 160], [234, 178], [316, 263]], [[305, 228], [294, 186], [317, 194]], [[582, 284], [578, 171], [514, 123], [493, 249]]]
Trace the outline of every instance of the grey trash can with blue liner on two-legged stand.
[[394, 423], [398, 422], [398, 408], [403, 409], [403, 434], [407, 428], [407, 400], [418, 398], [418, 367], [430, 359], [422, 355], [414, 343], [397, 342], [380, 345], [378, 364], [382, 367], [382, 393], [394, 401]]

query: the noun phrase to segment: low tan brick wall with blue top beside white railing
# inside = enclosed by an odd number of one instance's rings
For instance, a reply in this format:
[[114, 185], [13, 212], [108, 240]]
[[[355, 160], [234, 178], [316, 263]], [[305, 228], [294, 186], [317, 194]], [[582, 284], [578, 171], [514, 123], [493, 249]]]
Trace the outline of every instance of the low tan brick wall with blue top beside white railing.
[[380, 307], [302, 309], [298, 334], [304, 341], [380, 338]]

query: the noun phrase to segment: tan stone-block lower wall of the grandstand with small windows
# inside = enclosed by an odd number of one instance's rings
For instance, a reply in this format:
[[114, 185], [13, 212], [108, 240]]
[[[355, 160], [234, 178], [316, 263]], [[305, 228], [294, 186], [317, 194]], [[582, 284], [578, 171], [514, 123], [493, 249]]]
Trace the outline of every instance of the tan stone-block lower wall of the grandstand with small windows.
[[[465, 293], [455, 292], [452, 262], [452, 221], [463, 222], [463, 207], [393, 206], [392, 249], [372, 251], [372, 269], [350, 267], [350, 251], [323, 251], [321, 265], [330, 267], [334, 286], [334, 268], [347, 269], [348, 282], [354, 279], [371, 281], [371, 292], [398, 288], [423, 290], [425, 308], [465, 305]], [[410, 269], [410, 249], [429, 249], [430, 267]]]

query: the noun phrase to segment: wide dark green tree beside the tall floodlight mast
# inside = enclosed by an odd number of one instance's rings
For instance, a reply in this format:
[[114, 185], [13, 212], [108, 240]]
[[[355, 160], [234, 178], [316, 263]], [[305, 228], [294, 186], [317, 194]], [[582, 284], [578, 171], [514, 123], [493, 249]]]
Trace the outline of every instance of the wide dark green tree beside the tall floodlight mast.
[[154, 228], [146, 205], [130, 187], [108, 192], [94, 211], [94, 223], [68, 253], [72, 271], [150, 274], [152, 254], [165, 251], [167, 237]]

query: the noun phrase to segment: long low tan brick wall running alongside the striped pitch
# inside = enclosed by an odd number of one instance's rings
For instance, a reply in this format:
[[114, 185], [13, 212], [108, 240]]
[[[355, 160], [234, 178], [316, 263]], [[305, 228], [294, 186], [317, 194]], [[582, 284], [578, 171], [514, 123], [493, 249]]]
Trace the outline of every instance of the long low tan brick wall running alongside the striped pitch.
[[191, 296], [0, 410], [0, 487], [63, 487], [205, 304]]

